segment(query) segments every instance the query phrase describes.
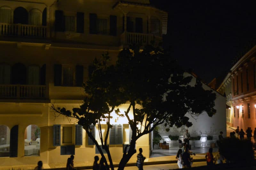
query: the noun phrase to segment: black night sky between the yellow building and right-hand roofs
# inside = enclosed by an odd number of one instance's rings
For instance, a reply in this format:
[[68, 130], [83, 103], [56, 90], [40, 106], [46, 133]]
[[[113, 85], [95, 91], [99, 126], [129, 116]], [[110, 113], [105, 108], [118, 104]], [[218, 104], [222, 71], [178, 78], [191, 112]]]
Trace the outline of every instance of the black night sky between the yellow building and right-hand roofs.
[[[256, 38], [256, 1], [151, 0], [168, 12], [165, 46], [184, 69], [206, 83], [225, 75], [231, 60]], [[255, 44], [254, 44], [255, 45]]]

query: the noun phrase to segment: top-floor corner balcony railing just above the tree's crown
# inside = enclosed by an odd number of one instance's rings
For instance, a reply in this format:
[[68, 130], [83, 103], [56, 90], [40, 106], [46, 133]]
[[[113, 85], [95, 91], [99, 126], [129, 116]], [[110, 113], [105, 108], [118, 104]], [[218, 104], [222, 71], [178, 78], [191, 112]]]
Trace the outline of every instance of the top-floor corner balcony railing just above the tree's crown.
[[129, 45], [129, 44], [140, 44], [140, 45], [148, 45], [151, 44], [153, 46], [162, 46], [162, 37], [156, 36], [153, 34], [145, 34], [145, 33], [129, 33], [124, 32], [121, 34], [121, 44]]

